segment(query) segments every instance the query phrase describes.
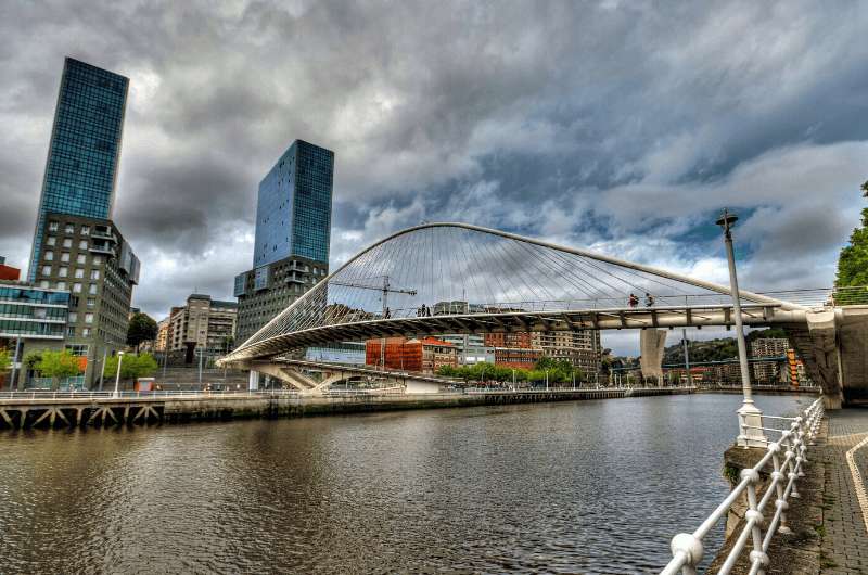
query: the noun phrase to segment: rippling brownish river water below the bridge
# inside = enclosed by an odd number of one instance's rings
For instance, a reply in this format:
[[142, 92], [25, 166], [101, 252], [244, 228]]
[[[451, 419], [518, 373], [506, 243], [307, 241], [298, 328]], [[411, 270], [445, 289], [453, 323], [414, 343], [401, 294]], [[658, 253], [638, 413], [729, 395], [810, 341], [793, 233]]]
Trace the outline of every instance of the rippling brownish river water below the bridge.
[[5, 432], [0, 573], [656, 572], [728, 493], [739, 404]]

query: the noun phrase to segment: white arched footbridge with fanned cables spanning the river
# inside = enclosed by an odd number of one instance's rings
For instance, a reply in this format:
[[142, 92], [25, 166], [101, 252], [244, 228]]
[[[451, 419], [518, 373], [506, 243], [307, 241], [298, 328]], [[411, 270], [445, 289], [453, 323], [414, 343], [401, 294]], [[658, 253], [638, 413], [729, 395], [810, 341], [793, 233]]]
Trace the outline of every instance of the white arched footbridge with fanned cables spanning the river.
[[[864, 289], [739, 290], [742, 323], [784, 329], [830, 409], [868, 398], [859, 303]], [[424, 223], [359, 252], [219, 363], [320, 389], [352, 370], [323, 363], [323, 379], [310, 380], [298, 361], [308, 346], [575, 329], [642, 330], [642, 355], [660, 357], [665, 330], [729, 328], [735, 312], [730, 289], [702, 279], [468, 223]]]

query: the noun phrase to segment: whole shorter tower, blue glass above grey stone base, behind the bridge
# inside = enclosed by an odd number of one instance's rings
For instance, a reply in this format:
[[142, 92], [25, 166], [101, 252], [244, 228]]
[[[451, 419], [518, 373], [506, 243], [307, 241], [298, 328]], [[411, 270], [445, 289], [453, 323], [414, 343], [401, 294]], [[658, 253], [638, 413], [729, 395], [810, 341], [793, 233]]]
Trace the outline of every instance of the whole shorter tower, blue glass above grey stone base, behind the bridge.
[[242, 343], [329, 274], [334, 153], [296, 140], [259, 183], [253, 269], [234, 281]]

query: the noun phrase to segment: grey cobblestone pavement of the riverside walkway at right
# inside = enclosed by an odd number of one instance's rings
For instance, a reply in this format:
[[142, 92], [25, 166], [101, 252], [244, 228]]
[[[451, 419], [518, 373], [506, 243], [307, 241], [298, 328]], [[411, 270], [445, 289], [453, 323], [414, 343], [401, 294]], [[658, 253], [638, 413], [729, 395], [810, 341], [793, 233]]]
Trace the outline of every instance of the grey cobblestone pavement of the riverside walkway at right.
[[[827, 411], [829, 435], [824, 448], [826, 477], [820, 565], [825, 575], [868, 574], [868, 532], [846, 453], [868, 437], [868, 409]], [[861, 474], [868, 478], [868, 445], [853, 453]], [[868, 502], [864, 502], [868, 503]]]

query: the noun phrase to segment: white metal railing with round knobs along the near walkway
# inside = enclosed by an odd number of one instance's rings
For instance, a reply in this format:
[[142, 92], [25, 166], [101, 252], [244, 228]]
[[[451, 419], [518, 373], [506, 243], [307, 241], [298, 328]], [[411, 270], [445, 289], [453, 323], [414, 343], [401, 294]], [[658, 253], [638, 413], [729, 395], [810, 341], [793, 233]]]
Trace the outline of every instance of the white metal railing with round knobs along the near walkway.
[[[748, 497], [744, 526], [717, 573], [719, 575], [728, 574], [742, 551], [748, 547], [749, 541], [751, 541], [751, 568], [749, 573], [751, 575], [764, 573], [769, 562], [767, 552], [771, 538], [778, 532], [790, 533], [787, 526], [788, 499], [799, 497], [796, 482], [799, 477], [804, 476], [802, 467], [807, 462], [805, 453], [808, 445], [810, 445], [810, 442], [819, 431], [822, 414], [822, 398], [818, 398], [801, 416], [795, 418], [763, 416], [764, 420], [789, 421], [790, 427], [781, 430], [765, 424], [762, 425], [764, 431], [780, 433], [780, 439], [769, 440], [763, 458], [753, 468], [741, 471], [739, 484], [717, 506], [717, 509], [702, 522], [702, 525], [693, 533], [679, 533], [673, 537], [671, 545], [673, 559], [661, 572], [661, 575], [674, 575], [679, 572], [685, 575], [695, 574], [697, 567], [702, 561], [703, 539], [718, 521], [726, 518], [732, 503], [742, 494], [746, 494]], [[781, 453], [783, 455], [782, 460]], [[757, 491], [762, 487], [760, 474], [769, 470], [766, 490], [763, 497], [757, 500]], [[765, 523], [767, 508], [773, 498], [775, 499], [774, 513], [771, 514], [771, 520]], [[765, 533], [763, 533], [764, 526], [767, 526]]]

